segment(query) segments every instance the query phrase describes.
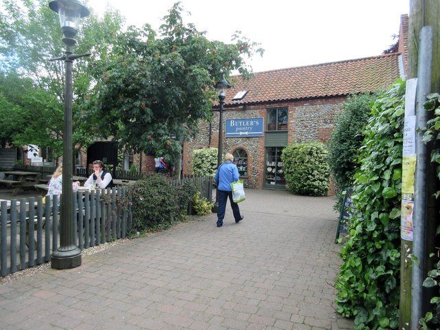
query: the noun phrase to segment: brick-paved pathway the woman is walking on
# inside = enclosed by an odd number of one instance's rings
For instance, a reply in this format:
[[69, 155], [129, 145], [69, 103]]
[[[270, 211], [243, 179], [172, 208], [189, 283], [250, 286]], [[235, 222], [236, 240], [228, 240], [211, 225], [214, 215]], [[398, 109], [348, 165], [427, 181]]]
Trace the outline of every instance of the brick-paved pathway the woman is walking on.
[[221, 228], [197, 217], [72, 270], [3, 281], [0, 329], [353, 329], [334, 311], [334, 199], [247, 198], [239, 224], [228, 206]]

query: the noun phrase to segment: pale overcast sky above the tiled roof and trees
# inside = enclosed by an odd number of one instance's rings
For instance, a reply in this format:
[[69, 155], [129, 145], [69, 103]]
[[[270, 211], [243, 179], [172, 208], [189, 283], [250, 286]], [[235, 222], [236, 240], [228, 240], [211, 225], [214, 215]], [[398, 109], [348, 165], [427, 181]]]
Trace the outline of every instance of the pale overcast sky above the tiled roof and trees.
[[[89, 0], [100, 14], [119, 10], [127, 25], [158, 30], [177, 0]], [[397, 42], [409, 0], [181, 0], [185, 24], [210, 40], [231, 43], [235, 31], [265, 53], [246, 63], [254, 72], [377, 56]], [[188, 14], [190, 12], [190, 14]]]

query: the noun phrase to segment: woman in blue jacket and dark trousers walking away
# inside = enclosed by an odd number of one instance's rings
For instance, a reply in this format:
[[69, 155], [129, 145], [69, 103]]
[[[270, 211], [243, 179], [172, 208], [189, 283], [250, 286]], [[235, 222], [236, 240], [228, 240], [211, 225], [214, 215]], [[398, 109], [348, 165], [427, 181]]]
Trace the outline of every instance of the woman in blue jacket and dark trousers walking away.
[[225, 162], [217, 168], [215, 173], [215, 183], [217, 184], [217, 190], [219, 190], [219, 210], [217, 211], [217, 227], [223, 225], [223, 218], [225, 217], [226, 201], [231, 202], [232, 212], [234, 213], [235, 223], [239, 223], [243, 220], [243, 216], [240, 214], [239, 204], [234, 203], [232, 200], [232, 188], [231, 184], [239, 179], [239, 169], [236, 168], [234, 156], [230, 153], [225, 155]]

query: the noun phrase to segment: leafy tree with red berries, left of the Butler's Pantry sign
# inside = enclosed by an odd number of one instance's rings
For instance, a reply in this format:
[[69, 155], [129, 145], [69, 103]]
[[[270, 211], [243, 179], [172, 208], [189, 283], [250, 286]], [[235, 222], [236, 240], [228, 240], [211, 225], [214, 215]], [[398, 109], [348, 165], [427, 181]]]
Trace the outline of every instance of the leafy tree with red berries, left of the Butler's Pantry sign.
[[101, 118], [100, 131], [135, 152], [160, 154], [176, 164], [182, 142], [195, 134], [199, 120], [209, 120], [222, 73], [238, 69], [248, 75], [243, 55], [255, 43], [234, 36], [234, 44], [209, 41], [205, 32], [184, 25], [181, 5], [164, 17], [159, 34], [146, 24], [120, 34], [114, 58], [97, 63], [100, 76], [87, 111]]

